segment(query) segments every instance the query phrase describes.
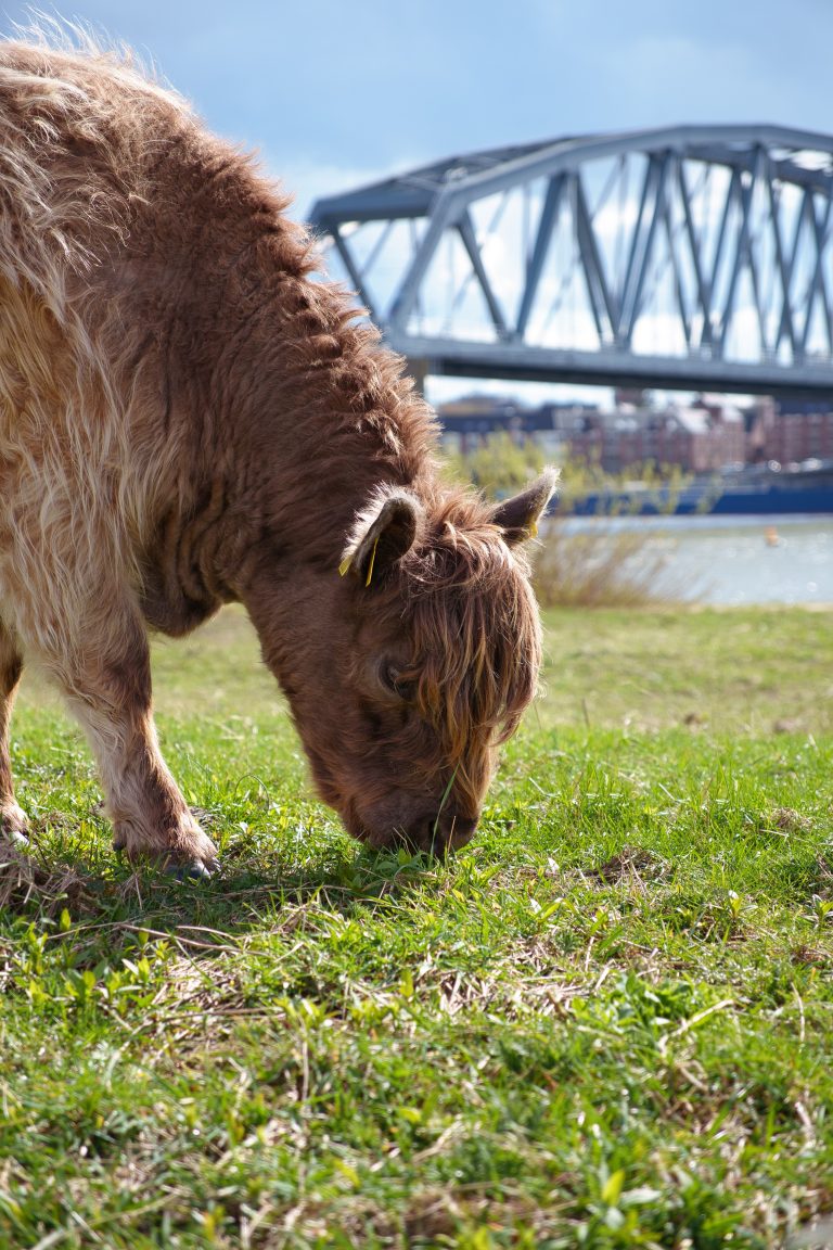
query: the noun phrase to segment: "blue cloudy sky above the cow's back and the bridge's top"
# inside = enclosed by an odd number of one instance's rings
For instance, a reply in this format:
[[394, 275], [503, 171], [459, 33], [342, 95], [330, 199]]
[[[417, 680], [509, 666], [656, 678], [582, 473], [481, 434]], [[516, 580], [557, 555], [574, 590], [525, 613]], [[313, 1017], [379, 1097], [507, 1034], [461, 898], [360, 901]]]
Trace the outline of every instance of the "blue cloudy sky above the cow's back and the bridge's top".
[[[833, 0], [71, 0], [296, 198], [674, 122], [833, 132]], [[29, 20], [0, 0], [0, 32]]]

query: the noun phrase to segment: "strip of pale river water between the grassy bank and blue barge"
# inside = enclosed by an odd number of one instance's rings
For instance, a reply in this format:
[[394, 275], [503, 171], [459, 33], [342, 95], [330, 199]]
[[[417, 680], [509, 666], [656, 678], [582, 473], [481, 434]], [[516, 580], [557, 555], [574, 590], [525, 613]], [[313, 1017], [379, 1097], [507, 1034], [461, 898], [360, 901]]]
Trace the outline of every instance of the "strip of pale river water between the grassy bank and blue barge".
[[[638, 529], [676, 598], [703, 604], [833, 604], [833, 516], [574, 519]], [[662, 576], [662, 575], [661, 575]]]

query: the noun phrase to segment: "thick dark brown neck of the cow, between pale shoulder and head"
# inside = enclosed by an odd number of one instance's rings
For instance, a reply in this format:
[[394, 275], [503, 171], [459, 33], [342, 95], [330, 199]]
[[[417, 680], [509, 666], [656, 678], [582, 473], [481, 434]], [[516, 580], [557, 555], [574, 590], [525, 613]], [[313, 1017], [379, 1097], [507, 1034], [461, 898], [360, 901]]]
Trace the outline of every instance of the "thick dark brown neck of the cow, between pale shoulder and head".
[[189, 434], [170, 445], [181, 471], [160, 491], [170, 504], [155, 521], [145, 591], [149, 619], [170, 632], [245, 598], [265, 552], [276, 576], [337, 566], [373, 488], [418, 491], [432, 472], [428, 409], [346, 295], [312, 280], [298, 228], [240, 229], [234, 265], [204, 245], [179, 282], [167, 261], [157, 279], [147, 259], [130, 275], [134, 309], [147, 299], [145, 324], [160, 292], [176, 292], [165, 421]]

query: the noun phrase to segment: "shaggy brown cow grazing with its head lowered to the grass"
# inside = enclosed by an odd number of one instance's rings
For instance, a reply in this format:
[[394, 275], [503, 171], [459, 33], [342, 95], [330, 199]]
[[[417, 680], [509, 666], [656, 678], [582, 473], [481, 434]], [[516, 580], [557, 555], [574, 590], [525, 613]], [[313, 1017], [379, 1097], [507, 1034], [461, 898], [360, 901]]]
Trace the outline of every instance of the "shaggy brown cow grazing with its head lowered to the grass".
[[[451, 489], [435, 421], [252, 162], [117, 56], [0, 45], [0, 819], [22, 656], [117, 846], [210, 870], [159, 750], [147, 629], [245, 604], [322, 798], [453, 848], [533, 696], [522, 544], [555, 485]], [[340, 576], [341, 572], [341, 576]]]

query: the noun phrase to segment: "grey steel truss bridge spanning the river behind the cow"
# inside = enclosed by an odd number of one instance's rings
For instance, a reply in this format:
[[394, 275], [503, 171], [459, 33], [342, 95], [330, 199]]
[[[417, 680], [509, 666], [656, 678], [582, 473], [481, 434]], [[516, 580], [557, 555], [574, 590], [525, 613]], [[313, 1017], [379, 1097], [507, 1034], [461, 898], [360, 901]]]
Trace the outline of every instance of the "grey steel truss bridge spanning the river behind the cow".
[[318, 200], [415, 372], [833, 396], [833, 136], [676, 126], [472, 152]]

